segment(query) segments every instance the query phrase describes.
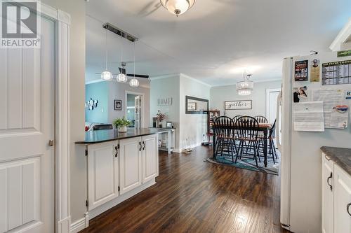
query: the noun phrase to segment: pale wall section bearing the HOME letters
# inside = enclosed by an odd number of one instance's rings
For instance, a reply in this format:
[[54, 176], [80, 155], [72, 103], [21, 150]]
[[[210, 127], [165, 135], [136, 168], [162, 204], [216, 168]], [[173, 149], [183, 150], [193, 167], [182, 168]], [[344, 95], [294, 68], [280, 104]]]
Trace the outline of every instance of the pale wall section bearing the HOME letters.
[[[150, 83], [150, 126], [157, 111], [166, 113], [166, 121], [173, 122], [176, 128], [176, 150], [179, 150], [179, 75], [158, 77]], [[172, 98], [172, 105], [158, 106], [157, 99]], [[165, 124], [164, 122], [164, 124]]]

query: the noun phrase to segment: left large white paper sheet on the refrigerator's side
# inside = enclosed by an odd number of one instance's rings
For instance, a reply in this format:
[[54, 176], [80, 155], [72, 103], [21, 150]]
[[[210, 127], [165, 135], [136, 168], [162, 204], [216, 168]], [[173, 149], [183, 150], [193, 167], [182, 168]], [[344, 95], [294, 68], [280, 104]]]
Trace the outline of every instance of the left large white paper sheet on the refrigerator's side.
[[293, 106], [293, 129], [324, 132], [323, 101], [295, 104]]

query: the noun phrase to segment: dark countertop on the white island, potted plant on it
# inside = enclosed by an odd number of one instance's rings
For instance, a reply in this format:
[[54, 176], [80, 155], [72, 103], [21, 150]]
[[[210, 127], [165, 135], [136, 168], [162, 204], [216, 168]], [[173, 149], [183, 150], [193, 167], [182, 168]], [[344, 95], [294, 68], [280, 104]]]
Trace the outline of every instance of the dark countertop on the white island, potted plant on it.
[[84, 141], [77, 141], [76, 144], [102, 143], [105, 141], [115, 141], [119, 139], [129, 139], [136, 136], [157, 134], [158, 132], [164, 131], [165, 129], [158, 128], [128, 129], [126, 133], [119, 133], [117, 129], [95, 130], [86, 132], [86, 139]]

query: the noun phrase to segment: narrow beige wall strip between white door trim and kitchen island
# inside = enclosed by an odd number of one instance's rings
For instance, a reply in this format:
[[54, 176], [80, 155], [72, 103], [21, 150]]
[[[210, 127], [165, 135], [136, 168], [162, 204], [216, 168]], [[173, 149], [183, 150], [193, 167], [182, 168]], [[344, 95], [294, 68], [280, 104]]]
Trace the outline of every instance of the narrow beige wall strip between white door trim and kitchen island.
[[86, 157], [84, 146], [75, 141], [84, 140], [84, 99], [85, 99], [85, 52], [86, 52], [86, 3], [84, 0], [42, 0], [48, 6], [63, 10], [71, 16], [69, 31], [70, 61], [70, 203], [71, 220], [84, 218], [86, 212]]

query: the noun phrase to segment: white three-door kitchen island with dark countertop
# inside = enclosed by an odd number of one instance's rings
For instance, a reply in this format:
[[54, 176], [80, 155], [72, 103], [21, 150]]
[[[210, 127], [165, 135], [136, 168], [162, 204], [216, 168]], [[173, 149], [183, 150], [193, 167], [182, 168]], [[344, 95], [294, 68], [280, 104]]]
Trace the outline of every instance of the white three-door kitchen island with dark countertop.
[[159, 176], [158, 129], [86, 133], [87, 220], [154, 185]]

